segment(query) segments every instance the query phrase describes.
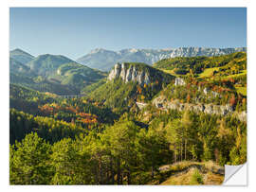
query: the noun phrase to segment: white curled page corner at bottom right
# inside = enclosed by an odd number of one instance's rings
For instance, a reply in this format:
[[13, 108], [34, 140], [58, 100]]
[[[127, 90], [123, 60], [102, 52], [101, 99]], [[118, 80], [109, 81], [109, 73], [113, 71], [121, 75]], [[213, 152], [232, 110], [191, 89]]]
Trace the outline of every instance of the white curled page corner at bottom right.
[[247, 186], [247, 163], [239, 166], [225, 165], [225, 179], [223, 185]]

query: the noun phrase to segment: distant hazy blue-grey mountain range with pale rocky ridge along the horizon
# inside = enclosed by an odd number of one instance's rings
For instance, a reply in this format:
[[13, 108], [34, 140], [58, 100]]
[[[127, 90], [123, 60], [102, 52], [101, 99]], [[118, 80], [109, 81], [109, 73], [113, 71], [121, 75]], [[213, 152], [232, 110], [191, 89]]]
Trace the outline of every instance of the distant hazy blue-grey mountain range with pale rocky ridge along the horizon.
[[247, 51], [246, 47], [237, 48], [205, 48], [205, 47], [180, 47], [167, 49], [135, 49], [128, 48], [111, 51], [102, 48], [92, 50], [79, 58], [77, 62], [88, 67], [109, 71], [117, 62], [144, 62], [153, 64], [156, 61], [175, 57], [195, 56], [220, 56], [234, 52]]

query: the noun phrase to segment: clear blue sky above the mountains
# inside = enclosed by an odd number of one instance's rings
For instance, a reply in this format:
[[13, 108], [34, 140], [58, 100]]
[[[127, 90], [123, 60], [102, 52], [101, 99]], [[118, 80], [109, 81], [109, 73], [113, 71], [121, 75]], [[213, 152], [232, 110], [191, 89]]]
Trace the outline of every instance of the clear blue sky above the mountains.
[[95, 48], [247, 46], [246, 8], [10, 8], [9, 49], [76, 60]]

